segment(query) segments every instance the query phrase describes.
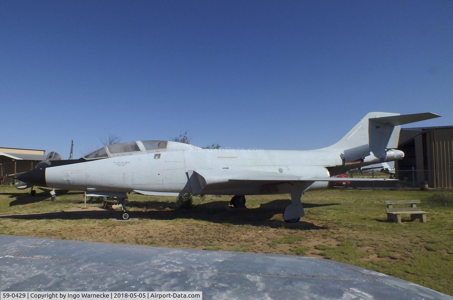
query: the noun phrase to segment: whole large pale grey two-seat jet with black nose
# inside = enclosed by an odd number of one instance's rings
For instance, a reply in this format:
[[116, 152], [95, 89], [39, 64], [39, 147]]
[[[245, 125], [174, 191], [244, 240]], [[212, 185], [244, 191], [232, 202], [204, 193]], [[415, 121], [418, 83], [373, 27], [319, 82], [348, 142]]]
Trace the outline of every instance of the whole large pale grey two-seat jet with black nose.
[[[400, 160], [403, 124], [439, 117], [433, 113], [400, 115], [368, 113], [337, 143], [317, 150], [202, 149], [160, 140], [141, 140], [102, 147], [78, 160], [55, 160], [17, 179], [87, 195], [120, 198], [122, 218], [127, 193], [145, 195], [235, 195], [231, 204], [244, 207], [245, 195], [290, 194], [283, 213], [286, 222], [304, 216], [304, 192], [327, 189], [348, 170]], [[348, 181], [394, 179], [348, 178]]]

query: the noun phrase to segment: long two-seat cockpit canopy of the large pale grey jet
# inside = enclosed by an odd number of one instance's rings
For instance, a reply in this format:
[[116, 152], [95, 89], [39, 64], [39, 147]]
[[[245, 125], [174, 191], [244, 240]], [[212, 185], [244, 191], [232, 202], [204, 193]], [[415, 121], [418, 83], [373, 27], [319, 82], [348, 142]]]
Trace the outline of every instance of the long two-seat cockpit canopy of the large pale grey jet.
[[107, 157], [126, 156], [147, 153], [151, 150], [164, 150], [168, 147], [166, 140], [139, 140], [113, 145], [106, 145], [92, 153], [83, 156], [86, 160], [101, 159]]

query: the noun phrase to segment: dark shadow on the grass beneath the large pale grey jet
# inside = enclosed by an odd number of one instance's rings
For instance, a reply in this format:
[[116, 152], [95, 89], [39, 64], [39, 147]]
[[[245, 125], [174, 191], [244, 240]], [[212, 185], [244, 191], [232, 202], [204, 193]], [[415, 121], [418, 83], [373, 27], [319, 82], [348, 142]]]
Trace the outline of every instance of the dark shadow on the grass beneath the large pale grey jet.
[[[23, 195], [23, 194], [20, 194]], [[14, 200], [19, 201], [22, 197]], [[31, 203], [29, 198], [24, 197], [24, 203]], [[41, 198], [44, 200], [45, 198]], [[39, 200], [39, 201], [41, 201]], [[13, 201], [13, 202], [14, 202]], [[58, 201], [58, 200], [57, 200]], [[289, 199], [274, 200], [269, 203], [261, 204], [259, 208], [232, 208], [228, 206], [227, 201], [212, 201], [195, 205], [192, 208], [176, 208], [175, 201], [130, 201], [129, 206], [133, 208], [146, 209], [146, 211], [130, 211], [131, 218], [154, 219], [154, 220], [173, 220], [177, 218], [194, 219], [208, 221], [212, 223], [228, 223], [233, 225], [267, 225], [269, 219], [278, 223], [280, 218], [274, 218], [275, 215], [281, 214], [283, 209], [291, 203]], [[15, 205], [17, 205], [15, 204]], [[323, 206], [338, 205], [340, 203], [313, 204], [303, 203], [304, 208], [316, 208]], [[101, 204], [100, 204], [101, 206]], [[117, 218], [118, 211], [75, 211], [75, 212], [54, 212], [54, 213], [37, 213], [24, 215], [0, 216], [0, 218], [24, 218], [24, 219], [109, 219]], [[283, 221], [281, 221], [283, 222]], [[298, 223], [297, 229], [327, 229], [313, 223], [304, 222], [303, 219]]]

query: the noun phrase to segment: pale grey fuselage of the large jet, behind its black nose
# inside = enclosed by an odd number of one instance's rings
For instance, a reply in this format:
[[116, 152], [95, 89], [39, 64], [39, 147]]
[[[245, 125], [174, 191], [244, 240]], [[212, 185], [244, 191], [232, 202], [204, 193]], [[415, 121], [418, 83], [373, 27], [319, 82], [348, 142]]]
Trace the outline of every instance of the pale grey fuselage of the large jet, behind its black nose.
[[[191, 170], [222, 170], [224, 173], [252, 170], [273, 172], [282, 175], [304, 177], [330, 177], [336, 168], [354, 169], [357, 164], [345, 165], [338, 153], [328, 149], [319, 150], [260, 150], [260, 149], [202, 149], [193, 145], [168, 141], [167, 148], [145, 150], [136, 142], [140, 152], [107, 158], [82, 160], [69, 165], [49, 166], [41, 170], [45, 177], [42, 185], [57, 188], [82, 190], [90, 193], [109, 191], [143, 194], [193, 193], [189, 180]], [[108, 148], [107, 148], [108, 150]], [[110, 156], [113, 157], [110, 157]], [[371, 164], [403, 157], [401, 151], [388, 150], [381, 157], [368, 157]], [[80, 160], [79, 160], [80, 161]], [[341, 172], [341, 173], [342, 173]], [[235, 184], [211, 184], [203, 194], [251, 195], [289, 193], [287, 182], [253, 184], [247, 181]], [[316, 181], [308, 190], [326, 189], [328, 182]]]

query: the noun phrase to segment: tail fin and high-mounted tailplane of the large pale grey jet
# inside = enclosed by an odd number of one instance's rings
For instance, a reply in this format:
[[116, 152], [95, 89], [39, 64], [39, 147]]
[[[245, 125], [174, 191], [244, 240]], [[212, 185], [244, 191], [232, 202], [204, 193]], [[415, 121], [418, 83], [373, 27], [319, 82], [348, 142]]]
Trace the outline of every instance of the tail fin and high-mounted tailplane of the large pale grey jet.
[[329, 150], [340, 152], [346, 163], [371, 153], [379, 157], [386, 149], [397, 148], [401, 125], [437, 118], [431, 112], [401, 115], [390, 112], [370, 112]]

